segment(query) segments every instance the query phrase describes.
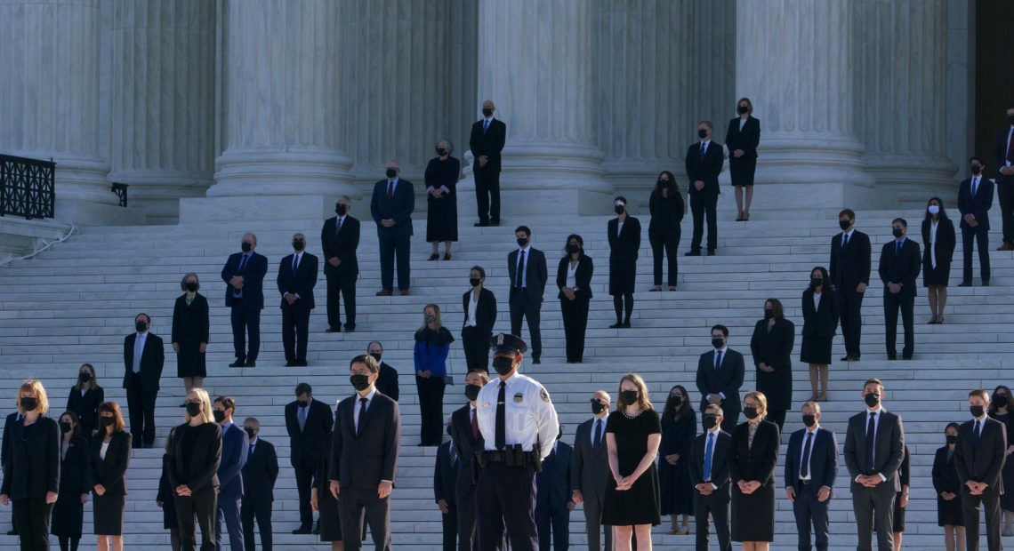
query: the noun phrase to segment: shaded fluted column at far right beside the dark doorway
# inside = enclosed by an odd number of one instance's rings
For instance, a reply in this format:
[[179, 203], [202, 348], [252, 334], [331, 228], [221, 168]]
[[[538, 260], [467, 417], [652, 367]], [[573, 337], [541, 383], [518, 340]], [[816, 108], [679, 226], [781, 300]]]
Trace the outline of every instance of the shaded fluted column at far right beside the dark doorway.
[[860, 0], [856, 130], [882, 206], [957, 192], [947, 158], [945, 0]]

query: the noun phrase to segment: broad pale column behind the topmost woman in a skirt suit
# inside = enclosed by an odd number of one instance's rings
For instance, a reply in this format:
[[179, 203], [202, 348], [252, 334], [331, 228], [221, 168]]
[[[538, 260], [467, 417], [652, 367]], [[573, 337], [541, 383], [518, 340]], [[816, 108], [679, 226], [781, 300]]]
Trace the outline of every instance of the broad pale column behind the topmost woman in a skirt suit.
[[870, 205], [853, 126], [853, 27], [845, 0], [736, 4], [736, 96], [760, 120], [755, 207]]

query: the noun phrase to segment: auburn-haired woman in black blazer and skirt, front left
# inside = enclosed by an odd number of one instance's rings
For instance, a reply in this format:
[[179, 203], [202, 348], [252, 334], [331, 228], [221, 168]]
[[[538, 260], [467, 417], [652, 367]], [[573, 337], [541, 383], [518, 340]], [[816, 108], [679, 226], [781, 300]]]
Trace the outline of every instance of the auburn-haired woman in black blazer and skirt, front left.
[[120, 404], [98, 404], [98, 434], [91, 439], [91, 488], [93, 525], [99, 551], [123, 551], [124, 510], [127, 498], [127, 466], [130, 464], [130, 432], [125, 430]]

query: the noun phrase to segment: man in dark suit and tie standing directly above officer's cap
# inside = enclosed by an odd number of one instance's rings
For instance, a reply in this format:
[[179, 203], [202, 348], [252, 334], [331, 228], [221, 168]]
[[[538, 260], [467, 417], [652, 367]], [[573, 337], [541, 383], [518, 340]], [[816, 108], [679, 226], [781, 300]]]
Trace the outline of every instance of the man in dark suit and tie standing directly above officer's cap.
[[531, 363], [538, 364], [542, 356], [542, 332], [538, 328], [542, 308], [542, 294], [549, 272], [546, 254], [531, 246], [531, 230], [518, 226], [514, 230], [518, 249], [507, 255], [507, 274], [510, 277], [510, 331], [521, 335], [521, 319], [528, 320], [531, 335]]

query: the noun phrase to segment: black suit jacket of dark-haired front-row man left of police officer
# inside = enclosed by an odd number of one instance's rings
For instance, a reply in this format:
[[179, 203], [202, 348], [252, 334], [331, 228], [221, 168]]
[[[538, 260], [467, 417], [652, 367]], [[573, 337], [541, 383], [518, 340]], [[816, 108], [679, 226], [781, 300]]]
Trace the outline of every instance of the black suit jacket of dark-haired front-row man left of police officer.
[[359, 419], [356, 436], [353, 407], [359, 394], [338, 403], [335, 432], [331, 439], [329, 480], [339, 486], [376, 488], [381, 480], [394, 482], [397, 474], [397, 447], [402, 440], [402, 415], [397, 402], [377, 392]]

